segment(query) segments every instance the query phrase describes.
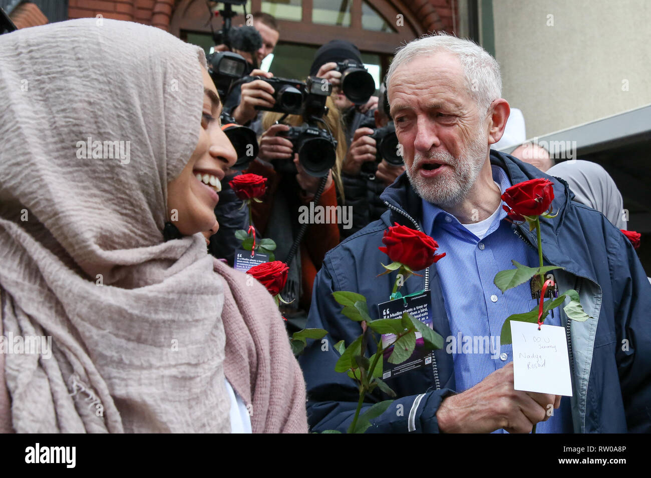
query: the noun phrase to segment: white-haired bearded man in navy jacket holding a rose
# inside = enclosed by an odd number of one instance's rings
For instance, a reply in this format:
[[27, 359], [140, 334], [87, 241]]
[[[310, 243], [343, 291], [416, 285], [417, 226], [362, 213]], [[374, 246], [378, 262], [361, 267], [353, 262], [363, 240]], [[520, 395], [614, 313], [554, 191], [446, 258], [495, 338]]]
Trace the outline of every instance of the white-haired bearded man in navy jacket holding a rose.
[[[446, 253], [401, 291], [430, 291], [433, 327], [447, 346], [426, 365], [386, 378], [397, 398], [370, 431], [531, 432], [534, 425], [538, 433], [651, 431], [646, 274], [628, 239], [602, 214], [572, 202], [574, 194], [557, 179], [490, 150], [509, 115], [495, 59], [469, 40], [426, 36], [396, 54], [387, 92], [406, 172], [381, 196], [387, 212], [331, 250], [314, 283], [307, 326], [329, 335], [300, 358], [312, 431], [346, 431], [355, 414], [355, 381], [334, 371], [339, 353], [324, 343], [350, 345], [362, 325], [342, 315], [332, 293], [364, 295], [378, 317], [396, 280], [395, 272], [378, 277], [387, 261], [378, 246], [395, 223], [430, 235], [437, 252]], [[565, 328], [572, 397], [514, 390], [511, 345], [499, 347], [506, 317], [538, 303], [527, 283], [506, 293], [493, 284], [497, 272], [513, 268], [512, 259], [538, 266], [534, 233], [509, 222], [501, 200], [506, 188], [533, 178], [553, 181], [559, 213], [541, 219], [544, 261], [562, 267], [554, 271], [559, 290], [579, 291], [593, 317], [570, 321], [555, 308], [545, 320]], [[478, 339], [491, 347], [474, 350]], [[367, 344], [370, 355], [376, 341]], [[362, 412], [386, 399], [376, 388]]]

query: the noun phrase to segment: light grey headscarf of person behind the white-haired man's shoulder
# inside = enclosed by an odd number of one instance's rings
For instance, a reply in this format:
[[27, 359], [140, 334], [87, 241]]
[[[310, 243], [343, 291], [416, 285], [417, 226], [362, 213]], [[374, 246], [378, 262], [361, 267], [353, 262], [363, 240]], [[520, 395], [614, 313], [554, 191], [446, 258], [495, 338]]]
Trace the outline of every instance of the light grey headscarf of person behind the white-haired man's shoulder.
[[602, 166], [592, 161], [563, 161], [551, 166], [549, 176], [565, 179], [574, 200], [602, 213], [618, 229], [626, 230], [624, 201], [615, 181]]

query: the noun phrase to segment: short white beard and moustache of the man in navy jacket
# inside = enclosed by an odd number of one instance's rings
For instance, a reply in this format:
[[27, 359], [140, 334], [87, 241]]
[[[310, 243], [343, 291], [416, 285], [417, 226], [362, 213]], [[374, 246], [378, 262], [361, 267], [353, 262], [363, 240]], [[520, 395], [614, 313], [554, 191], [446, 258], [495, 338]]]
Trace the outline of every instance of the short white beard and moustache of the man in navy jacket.
[[[488, 138], [477, 135], [458, 159], [449, 152], [432, 151], [427, 155], [415, 153], [411, 168], [405, 165], [409, 182], [414, 191], [427, 202], [448, 209], [460, 204], [465, 195], [475, 185], [479, 172], [484, 167]], [[436, 159], [452, 167], [451, 171], [439, 174], [436, 178], [423, 178], [417, 173], [419, 164], [424, 159]]]

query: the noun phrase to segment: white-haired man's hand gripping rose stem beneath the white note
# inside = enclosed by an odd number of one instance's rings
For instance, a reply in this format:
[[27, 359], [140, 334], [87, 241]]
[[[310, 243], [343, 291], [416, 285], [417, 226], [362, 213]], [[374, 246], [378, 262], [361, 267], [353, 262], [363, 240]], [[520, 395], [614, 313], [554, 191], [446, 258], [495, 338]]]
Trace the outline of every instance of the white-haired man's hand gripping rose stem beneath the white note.
[[447, 397], [436, 412], [443, 433], [529, 433], [546, 421], [548, 406], [561, 406], [561, 395], [522, 392], [513, 388], [513, 362], [494, 371], [473, 388]]

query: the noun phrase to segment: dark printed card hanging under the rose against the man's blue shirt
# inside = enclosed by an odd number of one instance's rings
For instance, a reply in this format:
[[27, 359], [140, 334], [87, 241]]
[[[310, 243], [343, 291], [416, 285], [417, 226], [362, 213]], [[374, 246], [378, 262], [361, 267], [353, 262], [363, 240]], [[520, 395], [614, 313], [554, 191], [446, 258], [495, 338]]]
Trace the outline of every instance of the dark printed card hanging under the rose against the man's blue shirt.
[[[411, 314], [412, 317], [419, 319], [419, 321], [434, 329], [434, 326], [432, 325], [430, 295], [431, 291], [424, 291], [422, 294], [413, 297], [382, 302], [381, 304], [378, 304], [378, 315], [380, 315], [382, 319], [400, 319], [402, 318], [402, 314], [407, 312]], [[395, 334], [382, 334], [383, 348], [395, 341]], [[393, 347], [389, 347], [389, 349], [384, 352], [382, 360], [382, 378], [384, 380], [387, 378], [398, 377], [398, 375], [402, 375], [408, 371], [432, 364], [432, 351], [425, 350], [424, 341], [422, 340], [422, 334], [420, 332], [416, 332], [416, 347], [413, 350], [411, 357], [409, 357], [405, 362], [402, 362], [402, 364], [389, 363], [391, 352], [393, 352]]]

